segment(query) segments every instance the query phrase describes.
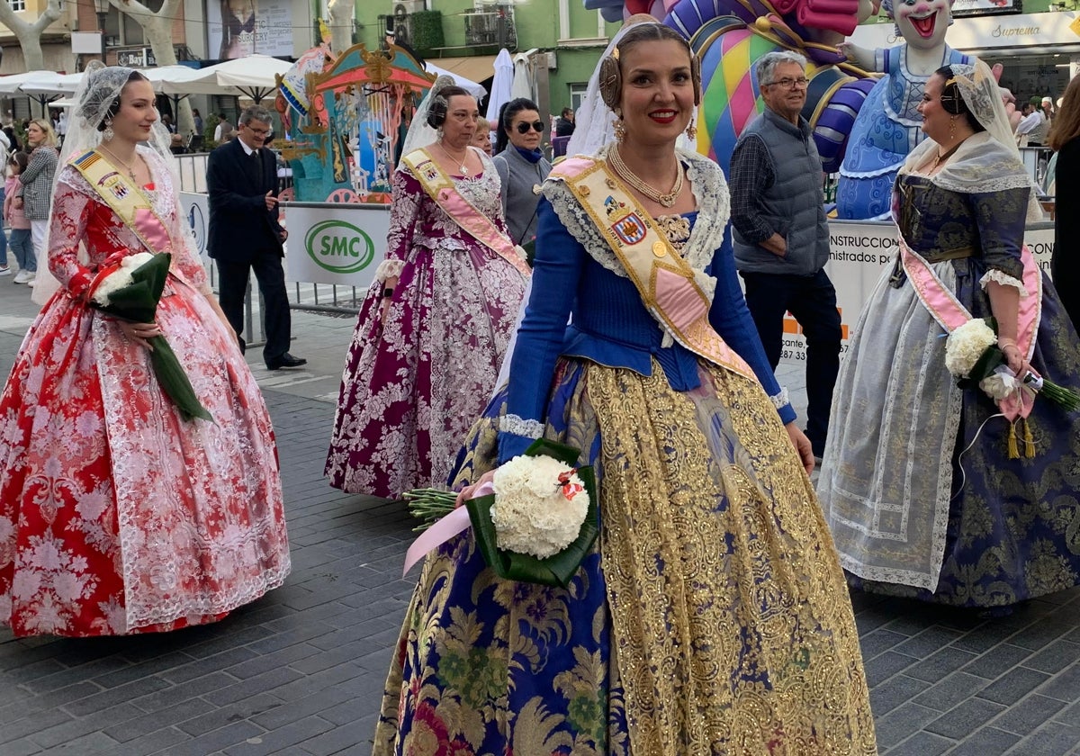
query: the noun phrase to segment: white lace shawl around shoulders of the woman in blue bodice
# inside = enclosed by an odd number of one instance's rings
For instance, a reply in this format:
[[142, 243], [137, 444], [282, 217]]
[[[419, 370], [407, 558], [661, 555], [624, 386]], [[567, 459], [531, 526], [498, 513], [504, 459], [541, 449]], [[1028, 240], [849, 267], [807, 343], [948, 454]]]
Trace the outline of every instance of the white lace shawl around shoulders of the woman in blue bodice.
[[[604, 160], [608, 147], [602, 147], [594, 160]], [[698, 201], [698, 219], [690, 231], [690, 239], [683, 249], [683, 257], [693, 269], [694, 281], [708, 297], [710, 302], [716, 292], [716, 279], [705, 273], [705, 267], [712, 262], [713, 255], [724, 242], [724, 230], [731, 216], [731, 199], [728, 195], [728, 184], [724, 172], [713, 161], [696, 152], [676, 150], [679, 160], [686, 166], [686, 176]], [[583, 156], [579, 156], [583, 157]], [[593, 224], [592, 218], [581, 207], [573, 194], [559, 178], [552, 174], [543, 185], [544, 197], [551, 202], [558, 219], [577, 239], [589, 255], [616, 275], [630, 278], [622, 262], [611, 252], [604, 235]]]

